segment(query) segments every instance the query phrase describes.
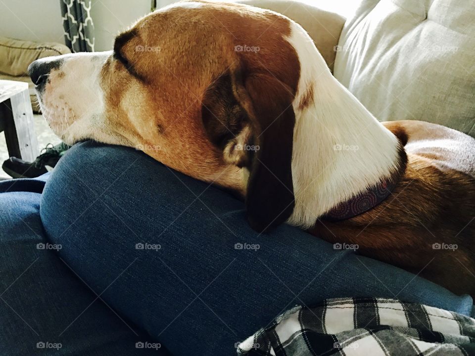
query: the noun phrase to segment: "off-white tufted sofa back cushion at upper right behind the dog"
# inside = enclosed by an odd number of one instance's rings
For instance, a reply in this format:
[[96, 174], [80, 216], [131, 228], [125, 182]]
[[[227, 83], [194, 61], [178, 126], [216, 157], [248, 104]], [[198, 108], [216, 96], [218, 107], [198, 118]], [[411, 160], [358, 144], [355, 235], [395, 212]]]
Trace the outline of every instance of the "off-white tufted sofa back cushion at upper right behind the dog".
[[475, 2], [363, 0], [334, 76], [380, 121], [424, 120], [475, 136]]

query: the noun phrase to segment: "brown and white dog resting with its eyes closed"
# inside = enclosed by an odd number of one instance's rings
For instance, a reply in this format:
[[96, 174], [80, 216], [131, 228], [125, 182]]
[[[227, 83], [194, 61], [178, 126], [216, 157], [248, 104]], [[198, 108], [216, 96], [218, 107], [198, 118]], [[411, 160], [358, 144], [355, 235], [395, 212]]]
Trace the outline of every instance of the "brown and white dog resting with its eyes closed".
[[[141, 147], [237, 191], [256, 230], [287, 222], [475, 295], [475, 140], [420, 121], [379, 123], [287, 17], [180, 2], [139, 20], [111, 52], [29, 70], [65, 142]], [[326, 219], [381, 182], [379, 205]]]

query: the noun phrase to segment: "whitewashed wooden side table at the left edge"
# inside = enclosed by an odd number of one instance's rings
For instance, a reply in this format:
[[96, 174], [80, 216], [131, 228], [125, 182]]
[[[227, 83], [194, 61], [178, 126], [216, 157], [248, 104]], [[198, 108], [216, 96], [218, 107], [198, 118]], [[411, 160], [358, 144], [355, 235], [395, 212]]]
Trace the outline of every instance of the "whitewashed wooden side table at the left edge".
[[0, 132], [5, 132], [8, 154], [33, 162], [38, 139], [33, 124], [28, 83], [0, 80]]

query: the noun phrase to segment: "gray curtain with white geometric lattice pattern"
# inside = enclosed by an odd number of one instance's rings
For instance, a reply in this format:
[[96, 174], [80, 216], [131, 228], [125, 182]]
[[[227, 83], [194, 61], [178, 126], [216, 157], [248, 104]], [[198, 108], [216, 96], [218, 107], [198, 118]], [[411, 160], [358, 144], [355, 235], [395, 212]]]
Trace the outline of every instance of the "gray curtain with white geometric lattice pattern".
[[59, 1], [66, 45], [72, 52], [94, 52], [95, 39], [91, 0]]

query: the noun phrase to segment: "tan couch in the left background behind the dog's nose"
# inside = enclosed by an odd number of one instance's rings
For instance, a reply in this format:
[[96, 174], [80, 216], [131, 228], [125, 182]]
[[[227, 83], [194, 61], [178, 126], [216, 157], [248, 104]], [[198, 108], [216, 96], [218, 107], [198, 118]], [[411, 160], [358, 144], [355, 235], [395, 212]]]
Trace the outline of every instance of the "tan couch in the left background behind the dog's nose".
[[71, 53], [68, 47], [58, 43], [36, 43], [0, 36], [0, 80], [28, 83], [34, 112], [39, 112], [34, 85], [27, 73], [28, 65], [38, 58]]

